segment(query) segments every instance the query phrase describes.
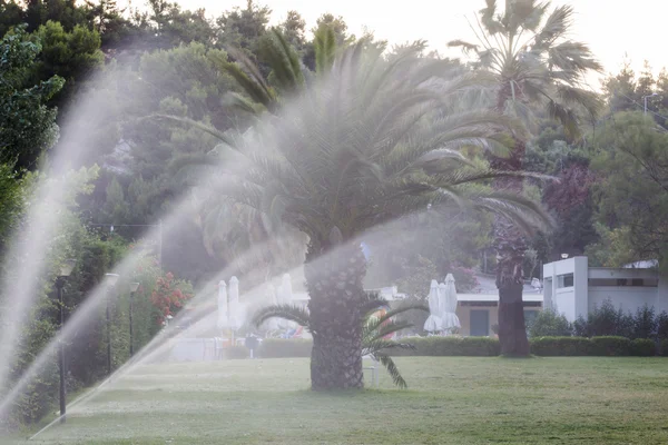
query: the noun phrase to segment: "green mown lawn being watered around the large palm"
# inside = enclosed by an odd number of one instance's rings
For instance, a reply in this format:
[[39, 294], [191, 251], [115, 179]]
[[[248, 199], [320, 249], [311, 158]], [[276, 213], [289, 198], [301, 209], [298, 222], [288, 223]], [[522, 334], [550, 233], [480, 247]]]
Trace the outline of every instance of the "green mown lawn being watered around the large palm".
[[29, 443], [668, 443], [666, 358], [397, 364], [407, 390], [394, 389], [383, 372], [379, 389], [343, 394], [307, 390], [307, 359], [145, 366]]

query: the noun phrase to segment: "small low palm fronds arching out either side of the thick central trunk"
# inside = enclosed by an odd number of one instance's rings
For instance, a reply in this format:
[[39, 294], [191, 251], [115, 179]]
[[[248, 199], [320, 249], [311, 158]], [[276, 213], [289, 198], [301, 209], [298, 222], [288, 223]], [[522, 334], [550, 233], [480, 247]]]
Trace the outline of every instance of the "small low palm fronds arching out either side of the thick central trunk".
[[[389, 308], [390, 304], [379, 298], [373, 293], [366, 293], [364, 300], [361, 301], [363, 310], [361, 319], [357, 323], [362, 326], [362, 356], [371, 356], [380, 362], [392, 377], [392, 382], [400, 388], [406, 388], [406, 380], [403, 378], [394, 360], [390, 356], [391, 349], [413, 349], [414, 345], [396, 342], [385, 338], [399, 330], [407, 329], [413, 325], [409, 323], [395, 322], [393, 318], [409, 310], [429, 310], [422, 305], [403, 306], [401, 308], [387, 310], [384, 315], [375, 317], [379, 309]], [[313, 332], [311, 315], [307, 309], [296, 305], [273, 305], [259, 309], [254, 317], [254, 323], [259, 327], [265, 320], [277, 317], [304, 326], [306, 330]]]

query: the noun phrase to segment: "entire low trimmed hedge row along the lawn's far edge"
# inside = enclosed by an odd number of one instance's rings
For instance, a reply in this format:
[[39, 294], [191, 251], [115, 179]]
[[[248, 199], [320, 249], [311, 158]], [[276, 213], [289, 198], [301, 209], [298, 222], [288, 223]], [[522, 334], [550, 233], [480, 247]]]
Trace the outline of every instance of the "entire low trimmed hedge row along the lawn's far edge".
[[[489, 337], [411, 337], [402, 343], [414, 349], [392, 350], [394, 356], [471, 356], [493, 357], [501, 350], [499, 340]], [[267, 338], [262, 342], [257, 356], [262, 358], [310, 357], [312, 340]], [[625, 337], [539, 337], [531, 339], [531, 354], [556, 356], [668, 356], [668, 339], [658, 345], [648, 338], [630, 340]], [[238, 358], [242, 358], [239, 354]], [[237, 357], [235, 357], [237, 358]]]

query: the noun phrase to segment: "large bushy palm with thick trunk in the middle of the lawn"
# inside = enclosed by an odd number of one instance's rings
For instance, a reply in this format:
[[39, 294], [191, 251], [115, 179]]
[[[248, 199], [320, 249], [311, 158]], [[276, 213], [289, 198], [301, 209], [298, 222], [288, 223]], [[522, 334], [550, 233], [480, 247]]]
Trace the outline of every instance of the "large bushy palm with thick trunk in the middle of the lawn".
[[220, 194], [308, 237], [314, 389], [363, 386], [365, 230], [429, 204], [469, 204], [519, 222], [540, 215], [518, 195], [469, 187], [522, 174], [477, 167], [458, 149], [498, 148], [501, 134], [520, 129], [493, 110], [449, 112], [449, 101], [480, 79], [451, 79], [443, 66], [412, 49], [387, 61], [377, 49], [352, 46], [313, 85], [222, 149], [220, 175], [234, 186]]

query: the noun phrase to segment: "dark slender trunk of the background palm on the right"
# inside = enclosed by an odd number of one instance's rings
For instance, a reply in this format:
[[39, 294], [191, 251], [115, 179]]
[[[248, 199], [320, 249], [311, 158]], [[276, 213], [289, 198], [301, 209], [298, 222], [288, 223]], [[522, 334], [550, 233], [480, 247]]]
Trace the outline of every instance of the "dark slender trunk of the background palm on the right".
[[[515, 140], [509, 157], [490, 160], [492, 168], [518, 171], [522, 168], [525, 146]], [[494, 181], [497, 190], [521, 194], [521, 178], [501, 178]], [[501, 354], [528, 356], [529, 339], [524, 326], [523, 263], [527, 243], [522, 233], [512, 221], [502, 216], [494, 218], [494, 248], [497, 250], [497, 288], [499, 289], [499, 342]]]

